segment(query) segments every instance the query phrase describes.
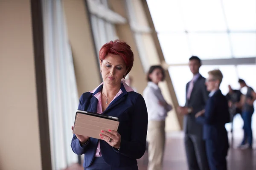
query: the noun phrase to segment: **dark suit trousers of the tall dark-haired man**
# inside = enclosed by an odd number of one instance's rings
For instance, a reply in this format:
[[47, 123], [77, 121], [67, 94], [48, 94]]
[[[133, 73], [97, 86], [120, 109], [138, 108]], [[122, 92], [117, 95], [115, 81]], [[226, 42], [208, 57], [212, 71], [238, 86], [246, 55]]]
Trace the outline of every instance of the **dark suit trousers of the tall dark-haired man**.
[[195, 135], [185, 135], [185, 149], [189, 170], [209, 170], [205, 141]]

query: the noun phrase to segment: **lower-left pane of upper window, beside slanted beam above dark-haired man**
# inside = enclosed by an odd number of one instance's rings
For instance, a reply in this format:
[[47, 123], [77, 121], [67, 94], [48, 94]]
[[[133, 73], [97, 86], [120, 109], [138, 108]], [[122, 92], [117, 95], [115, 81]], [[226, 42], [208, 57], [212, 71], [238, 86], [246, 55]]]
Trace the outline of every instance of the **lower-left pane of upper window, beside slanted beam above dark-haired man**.
[[167, 63], [187, 63], [189, 51], [186, 34], [158, 34], [158, 39]]

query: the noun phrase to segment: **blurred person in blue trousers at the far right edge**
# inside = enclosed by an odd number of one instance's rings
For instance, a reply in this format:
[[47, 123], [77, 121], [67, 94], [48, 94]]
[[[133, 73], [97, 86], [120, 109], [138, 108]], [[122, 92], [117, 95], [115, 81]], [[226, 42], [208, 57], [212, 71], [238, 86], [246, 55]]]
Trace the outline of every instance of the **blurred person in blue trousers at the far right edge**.
[[247, 149], [252, 148], [253, 133], [252, 133], [252, 115], [254, 112], [253, 102], [256, 99], [256, 93], [253, 88], [249, 87], [243, 79], [238, 80], [241, 88], [247, 88], [247, 92], [242, 102], [242, 118], [244, 120], [244, 138], [241, 142], [240, 148]]

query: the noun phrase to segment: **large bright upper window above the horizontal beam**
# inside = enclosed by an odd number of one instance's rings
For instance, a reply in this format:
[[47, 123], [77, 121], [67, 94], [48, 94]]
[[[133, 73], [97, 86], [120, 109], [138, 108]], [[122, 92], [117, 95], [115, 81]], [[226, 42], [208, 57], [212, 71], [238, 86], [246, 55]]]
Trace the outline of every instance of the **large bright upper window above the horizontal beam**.
[[[169, 64], [256, 57], [255, 0], [147, 0]], [[239, 11], [239, 12], [238, 12]]]

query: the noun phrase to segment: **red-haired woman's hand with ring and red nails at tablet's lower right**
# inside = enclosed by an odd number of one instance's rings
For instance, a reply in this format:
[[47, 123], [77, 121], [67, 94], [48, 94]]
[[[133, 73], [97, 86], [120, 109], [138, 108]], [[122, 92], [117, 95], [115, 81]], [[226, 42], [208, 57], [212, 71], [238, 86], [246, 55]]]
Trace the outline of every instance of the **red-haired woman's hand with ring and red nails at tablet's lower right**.
[[117, 131], [108, 130], [107, 132], [102, 130], [99, 136], [101, 136], [101, 139], [105, 140], [112, 147], [119, 149], [121, 143], [121, 135]]

